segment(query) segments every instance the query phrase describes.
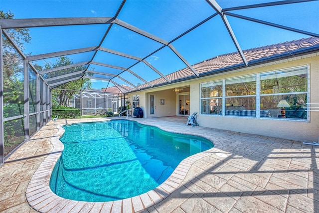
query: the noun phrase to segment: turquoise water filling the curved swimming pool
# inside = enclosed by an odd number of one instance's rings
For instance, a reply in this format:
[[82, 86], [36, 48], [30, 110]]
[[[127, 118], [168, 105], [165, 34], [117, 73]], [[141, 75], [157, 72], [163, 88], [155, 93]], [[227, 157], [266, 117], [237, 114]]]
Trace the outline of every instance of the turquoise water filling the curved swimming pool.
[[76, 201], [106, 202], [141, 195], [163, 183], [183, 159], [213, 147], [201, 137], [128, 120], [63, 128], [64, 150], [50, 188]]

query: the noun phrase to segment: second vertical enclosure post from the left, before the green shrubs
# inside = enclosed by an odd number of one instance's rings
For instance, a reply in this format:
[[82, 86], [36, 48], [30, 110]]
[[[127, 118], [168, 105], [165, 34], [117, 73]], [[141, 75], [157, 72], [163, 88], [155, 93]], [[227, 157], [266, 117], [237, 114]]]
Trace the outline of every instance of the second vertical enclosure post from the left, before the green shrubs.
[[23, 59], [23, 87], [24, 87], [24, 141], [29, 140], [29, 71], [28, 71], [28, 61]]

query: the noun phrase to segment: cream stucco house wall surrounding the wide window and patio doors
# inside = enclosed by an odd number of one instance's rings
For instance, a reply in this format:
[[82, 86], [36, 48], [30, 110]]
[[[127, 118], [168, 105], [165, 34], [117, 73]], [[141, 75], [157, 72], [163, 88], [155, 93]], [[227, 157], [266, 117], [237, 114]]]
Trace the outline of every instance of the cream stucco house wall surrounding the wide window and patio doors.
[[[286, 62], [277, 62], [272, 64], [264, 64], [259, 68], [248, 68], [244, 71], [237, 71], [234, 73], [226, 73], [214, 75], [212, 77], [199, 78], [198, 80], [185, 81], [183, 83], [167, 85], [163, 87], [156, 87], [151, 90], [144, 90], [143, 92], [156, 92], [159, 90], [166, 90], [168, 88], [179, 87], [180, 85], [190, 85], [190, 107], [191, 112], [198, 112], [198, 123], [200, 126], [218, 128], [224, 130], [232, 130], [244, 133], [259, 134], [265, 136], [274, 136], [285, 138], [289, 140], [297, 140], [303, 142], [318, 142], [319, 135], [319, 112], [310, 112], [309, 121], [292, 121], [285, 119], [257, 119], [247, 117], [234, 117], [234, 116], [218, 116], [218, 115], [200, 115], [200, 83], [212, 80], [227, 79], [237, 76], [244, 76], [255, 73], [268, 72], [273, 70], [297, 67], [302, 65], [309, 65], [310, 67], [310, 103], [319, 103], [319, 56], [313, 57], [300, 57], [299, 60], [286, 60]], [[138, 93], [136, 93], [138, 94]], [[160, 98], [166, 100], [173, 98], [168, 96], [168, 92], [159, 92], [157, 101]], [[141, 95], [141, 92], [140, 92]], [[167, 97], [166, 97], [167, 95]], [[162, 97], [161, 97], [162, 96]], [[142, 95], [141, 95], [142, 99]], [[146, 106], [146, 98], [145, 106]], [[175, 111], [177, 109], [177, 101], [175, 96]], [[159, 102], [158, 102], [159, 103]], [[318, 109], [319, 110], [319, 109]], [[158, 116], [168, 116], [165, 108], [160, 110]], [[165, 114], [166, 113], [166, 114]], [[171, 114], [173, 115], [173, 114]], [[174, 115], [177, 115], [176, 113]], [[186, 119], [185, 119], [186, 122]], [[194, 127], [195, 128], [195, 127]], [[195, 130], [194, 130], [195, 131]]]

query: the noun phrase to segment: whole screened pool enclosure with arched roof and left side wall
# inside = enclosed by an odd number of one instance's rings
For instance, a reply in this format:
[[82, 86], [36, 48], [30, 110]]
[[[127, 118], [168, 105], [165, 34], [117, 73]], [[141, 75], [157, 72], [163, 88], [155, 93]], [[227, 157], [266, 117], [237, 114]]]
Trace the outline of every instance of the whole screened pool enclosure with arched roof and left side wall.
[[[1, 0], [0, 166], [52, 119], [54, 90], [75, 90], [66, 105], [81, 115], [118, 113], [122, 94], [261, 64], [243, 50], [319, 37], [318, 0], [70, 2]], [[230, 52], [235, 65], [193, 66]]]

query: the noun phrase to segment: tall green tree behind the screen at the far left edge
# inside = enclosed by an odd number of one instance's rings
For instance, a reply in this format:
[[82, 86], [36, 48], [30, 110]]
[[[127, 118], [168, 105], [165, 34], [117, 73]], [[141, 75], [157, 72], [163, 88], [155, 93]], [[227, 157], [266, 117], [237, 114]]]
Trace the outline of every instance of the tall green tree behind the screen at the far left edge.
[[[0, 10], [0, 19], [12, 19], [11, 11]], [[30, 43], [28, 28], [6, 29], [17, 47], [23, 51], [24, 43]], [[10, 43], [2, 36], [2, 65], [3, 65], [3, 117], [24, 114], [23, 111], [23, 59]], [[26, 54], [27, 55], [27, 54]], [[4, 155], [14, 149], [24, 140], [24, 118], [3, 122]]]

